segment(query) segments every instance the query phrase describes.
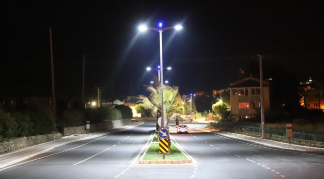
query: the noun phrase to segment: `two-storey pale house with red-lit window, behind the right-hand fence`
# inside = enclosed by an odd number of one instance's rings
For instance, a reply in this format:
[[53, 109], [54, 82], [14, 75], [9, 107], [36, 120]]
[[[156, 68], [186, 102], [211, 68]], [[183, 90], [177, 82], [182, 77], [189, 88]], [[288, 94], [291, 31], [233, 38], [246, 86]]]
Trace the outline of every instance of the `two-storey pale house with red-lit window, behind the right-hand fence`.
[[[236, 120], [253, 118], [261, 111], [260, 79], [248, 77], [230, 84], [231, 114]], [[263, 81], [264, 110], [270, 109], [269, 82]]]

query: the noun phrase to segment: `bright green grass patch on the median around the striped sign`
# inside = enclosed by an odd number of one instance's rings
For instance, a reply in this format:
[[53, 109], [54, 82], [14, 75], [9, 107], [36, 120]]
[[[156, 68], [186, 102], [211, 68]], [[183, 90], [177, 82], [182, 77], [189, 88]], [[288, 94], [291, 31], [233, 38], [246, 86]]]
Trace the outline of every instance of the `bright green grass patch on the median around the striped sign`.
[[[154, 139], [153, 139], [154, 140]], [[188, 158], [183, 155], [179, 149], [177, 149], [171, 143], [171, 155], [165, 155], [165, 160], [187, 160]], [[162, 153], [159, 153], [159, 143], [151, 143], [148, 151], [146, 152], [145, 156], [142, 160], [148, 161], [162, 161], [163, 156]]]

